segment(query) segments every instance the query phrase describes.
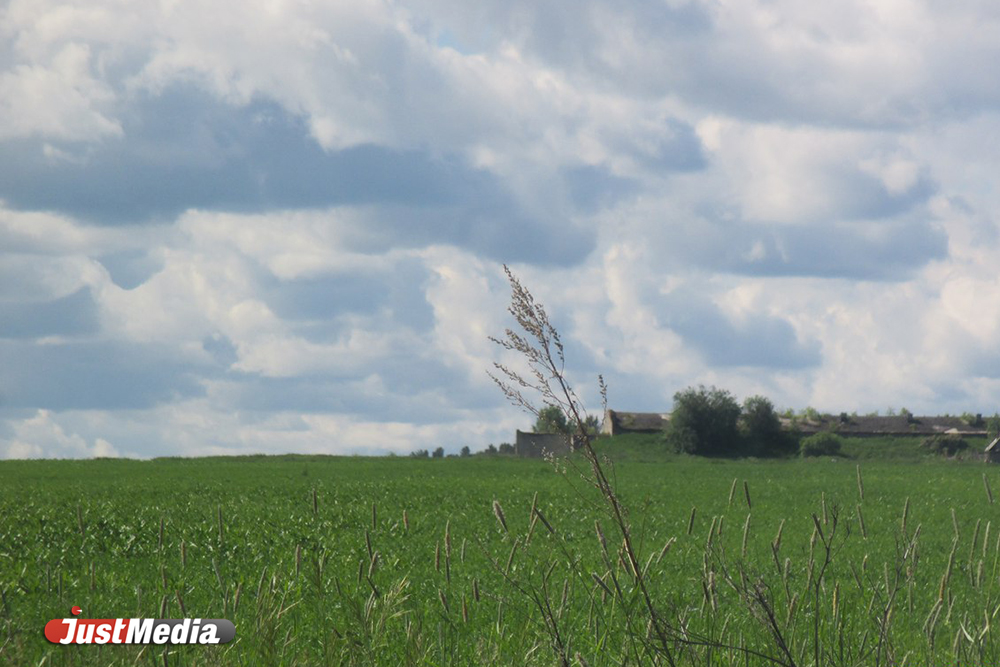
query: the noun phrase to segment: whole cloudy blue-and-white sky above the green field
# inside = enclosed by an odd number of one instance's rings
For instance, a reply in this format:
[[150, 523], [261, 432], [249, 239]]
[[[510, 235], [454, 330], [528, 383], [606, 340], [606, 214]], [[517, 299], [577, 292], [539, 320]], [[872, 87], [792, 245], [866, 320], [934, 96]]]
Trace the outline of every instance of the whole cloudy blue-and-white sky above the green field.
[[455, 453], [704, 384], [1000, 409], [1000, 5], [8, 0], [0, 458]]

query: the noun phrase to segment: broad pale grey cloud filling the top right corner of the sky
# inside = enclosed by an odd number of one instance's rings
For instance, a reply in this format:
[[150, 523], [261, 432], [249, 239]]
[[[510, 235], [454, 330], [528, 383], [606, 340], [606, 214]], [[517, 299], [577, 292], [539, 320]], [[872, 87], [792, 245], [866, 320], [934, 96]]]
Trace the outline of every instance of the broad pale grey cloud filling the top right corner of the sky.
[[[468, 4], [474, 6], [449, 5], [447, 14], [435, 7], [448, 17], [435, 25], [473, 51], [514, 42], [548, 67], [601, 88], [646, 99], [678, 97], [741, 119], [912, 127], [929, 118], [969, 117], [1000, 99], [989, 68], [981, 66], [996, 59], [995, 40], [988, 38], [995, 19], [981, 6], [953, 8], [944, 19], [949, 35], [967, 35], [967, 41], [926, 39], [907, 44], [907, 51], [892, 42], [909, 42], [912, 35], [892, 21], [878, 37], [859, 38], [849, 28], [827, 30], [808, 12], [789, 14], [763, 6], [768, 3], [732, 11], [711, 3], [641, 2], [616, 7], [613, 17], [598, 2]], [[766, 27], [757, 22], [764, 12]], [[848, 20], [861, 30], [879, 18]], [[887, 40], [883, 49], [880, 38]], [[844, 58], [838, 52], [844, 48], [867, 57]]]

